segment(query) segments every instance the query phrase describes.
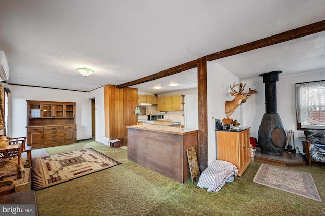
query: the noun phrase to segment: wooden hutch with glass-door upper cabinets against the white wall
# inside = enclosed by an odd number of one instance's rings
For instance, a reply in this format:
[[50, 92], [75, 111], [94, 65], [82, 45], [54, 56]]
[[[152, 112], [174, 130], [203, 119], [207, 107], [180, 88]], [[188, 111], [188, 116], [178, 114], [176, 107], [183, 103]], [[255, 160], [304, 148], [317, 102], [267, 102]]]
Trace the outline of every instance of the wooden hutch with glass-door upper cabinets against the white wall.
[[27, 100], [27, 145], [34, 149], [77, 142], [76, 103]]

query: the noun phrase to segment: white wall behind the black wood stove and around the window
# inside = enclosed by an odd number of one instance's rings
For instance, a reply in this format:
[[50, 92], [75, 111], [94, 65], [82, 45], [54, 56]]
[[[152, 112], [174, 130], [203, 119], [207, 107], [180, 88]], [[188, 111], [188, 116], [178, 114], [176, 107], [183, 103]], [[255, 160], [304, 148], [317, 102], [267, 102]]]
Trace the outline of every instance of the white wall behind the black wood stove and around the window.
[[[263, 72], [261, 73], [263, 74]], [[325, 79], [325, 70], [311, 71], [297, 75], [285, 75], [285, 71], [279, 74], [277, 84], [277, 113], [280, 115], [283, 128], [293, 130], [295, 147], [299, 147], [303, 153], [302, 142], [298, 137], [305, 137], [304, 131], [297, 130], [295, 84]], [[265, 113], [265, 83], [262, 77], [258, 80], [246, 82], [246, 86], [253, 86], [258, 94], [250, 97], [242, 106], [242, 119], [246, 125], [250, 125], [250, 136], [258, 137], [259, 124]], [[247, 87], [246, 87], [247, 88]], [[291, 142], [291, 145], [293, 143]]]

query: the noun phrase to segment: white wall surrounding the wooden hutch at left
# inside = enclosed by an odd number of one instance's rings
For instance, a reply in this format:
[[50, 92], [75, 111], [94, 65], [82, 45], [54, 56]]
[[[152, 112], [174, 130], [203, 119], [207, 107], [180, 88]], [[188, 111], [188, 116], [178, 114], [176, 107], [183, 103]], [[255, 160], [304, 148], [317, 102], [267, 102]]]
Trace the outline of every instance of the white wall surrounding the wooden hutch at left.
[[19, 85], [8, 85], [11, 93], [8, 98], [8, 136], [26, 136], [27, 102], [26, 100], [76, 102], [77, 140], [90, 139], [91, 100], [88, 92], [69, 91]]

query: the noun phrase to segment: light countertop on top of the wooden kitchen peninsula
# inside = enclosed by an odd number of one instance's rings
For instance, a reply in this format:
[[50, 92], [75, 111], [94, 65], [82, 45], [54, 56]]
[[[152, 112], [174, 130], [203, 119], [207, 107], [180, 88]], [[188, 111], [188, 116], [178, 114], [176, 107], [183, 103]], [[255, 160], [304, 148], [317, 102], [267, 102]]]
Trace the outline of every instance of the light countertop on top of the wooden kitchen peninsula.
[[197, 133], [198, 130], [196, 129], [187, 129], [181, 127], [166, 127], [165, 125], [131, 125], [126, 126], [127, 128], [138, 129], [138, 130], [149, 130], [149, 131], [156, 131], [161, 133], [170, 133], [170, 134], [177, 134], [177, 135], [186, 135], [190, 133]]

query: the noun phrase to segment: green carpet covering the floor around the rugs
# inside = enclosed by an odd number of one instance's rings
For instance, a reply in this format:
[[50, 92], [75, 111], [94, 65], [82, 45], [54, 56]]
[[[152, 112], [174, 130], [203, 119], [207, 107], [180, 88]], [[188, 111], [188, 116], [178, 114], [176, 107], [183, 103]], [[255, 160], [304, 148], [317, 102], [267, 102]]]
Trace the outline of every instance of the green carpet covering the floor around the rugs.
[[[178, 183], [127, 160], [127, 150], [96, 142], [46, 148], [57, 154], [93, 148], [122, 163], [36, 192], [39, 215], [322, 215], [325, 205], [253, 182], [254, 161], [241, 177], [219, 192], [207, 192], [189, 179]], [[325, 197], [325, 166], [288, 167], [312, 173]]]

